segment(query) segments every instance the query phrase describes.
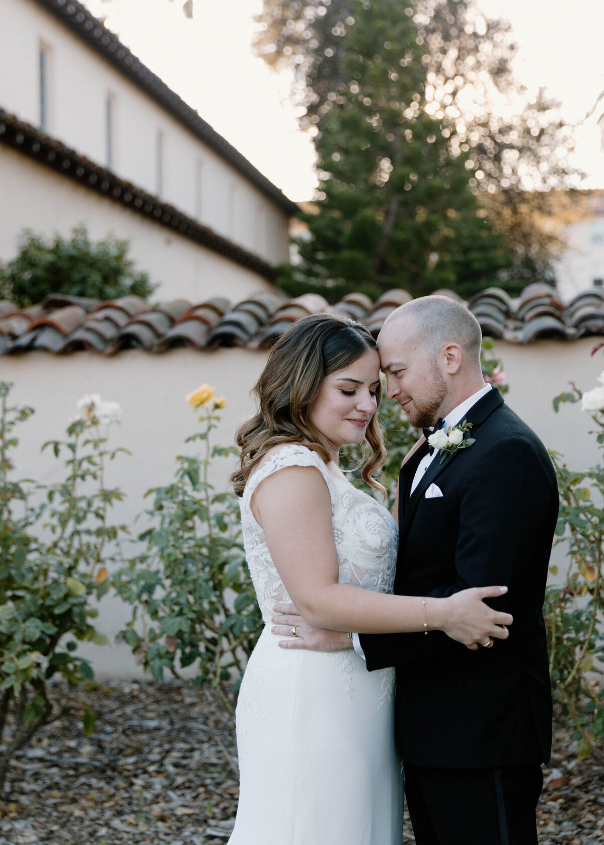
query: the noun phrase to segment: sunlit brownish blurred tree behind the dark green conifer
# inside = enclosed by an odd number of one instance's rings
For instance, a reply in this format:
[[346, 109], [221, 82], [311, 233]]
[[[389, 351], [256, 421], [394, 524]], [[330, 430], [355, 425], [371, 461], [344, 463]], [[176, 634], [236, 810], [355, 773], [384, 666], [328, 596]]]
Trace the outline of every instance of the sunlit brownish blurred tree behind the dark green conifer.
[[[513, 257], [500, 274], [503, 286], [514, 292], [530, 281], [552, 281], [551, 259], [564, 248], [568, 222], [560, 189], [577, 185], [580, 174], [568, 164], [571, 128], [558, 104], [542, 92], [531, 99], [513, 75], [508, 22], [486, 18], [474, 0], [379, 7], [387, 26], [403, 13], [416, 25], [412, 46], [426, 72], [423, 106], [452, 129], [451, 152], [473, 162], [470, 187]], [[294, 95], [305, 109], [300, 124], [311, 132], [349, 84], [346, 53], [356, 8], [354, 0], [264, 0], [258, 16], [257, 52], [272, 66], [294, 68]]]

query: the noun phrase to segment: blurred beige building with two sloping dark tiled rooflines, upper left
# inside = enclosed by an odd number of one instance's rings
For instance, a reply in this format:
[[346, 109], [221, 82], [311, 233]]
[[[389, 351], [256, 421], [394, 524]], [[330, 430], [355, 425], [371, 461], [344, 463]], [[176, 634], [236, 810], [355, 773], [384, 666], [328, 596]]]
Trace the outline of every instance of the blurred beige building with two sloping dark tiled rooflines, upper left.
[[0, 260], [84, 223], [162, 300], [271, 288], [294, 203], [82, 4], [3, 0], [2, 25]]

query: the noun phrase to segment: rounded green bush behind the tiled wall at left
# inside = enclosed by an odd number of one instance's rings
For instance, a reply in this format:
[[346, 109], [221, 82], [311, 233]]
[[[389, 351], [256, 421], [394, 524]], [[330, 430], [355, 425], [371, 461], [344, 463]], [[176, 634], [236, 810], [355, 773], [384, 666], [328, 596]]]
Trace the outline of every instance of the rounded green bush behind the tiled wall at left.
[[135, 294], [146, 299], [155, 286], [146, 273], [135, 269], [128, 250], [128, 241], [113, 234], [92, 243], [85, 226], [74, 228], [69, 238], [56, 234], [52, 241], [25, 231], [19, 253], [0, 264], [0, 298], [12, 299], [22, 308], [51, 293], [92, 299]]

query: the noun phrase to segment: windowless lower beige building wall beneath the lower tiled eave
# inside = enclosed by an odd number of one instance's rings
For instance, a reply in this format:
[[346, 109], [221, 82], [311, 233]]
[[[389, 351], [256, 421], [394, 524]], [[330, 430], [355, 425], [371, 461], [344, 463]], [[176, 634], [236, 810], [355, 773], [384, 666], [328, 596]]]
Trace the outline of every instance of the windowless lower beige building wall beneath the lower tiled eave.
[[252, 270], [0, 144], [0, 261], [14, 257], [25, 228], [68, 236], [80, 223], [93, 240], [107, 232], [129, 240], [137, 270], [160, 284], [154, 300], [223, 296], [234, 303], [274, 289]]

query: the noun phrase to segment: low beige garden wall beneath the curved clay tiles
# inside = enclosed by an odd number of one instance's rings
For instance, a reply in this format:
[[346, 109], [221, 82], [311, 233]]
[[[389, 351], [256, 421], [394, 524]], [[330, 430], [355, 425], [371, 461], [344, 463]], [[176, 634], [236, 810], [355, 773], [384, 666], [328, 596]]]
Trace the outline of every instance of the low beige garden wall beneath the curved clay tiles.
[[[514, 346], [500, 341], [496, 346], [509, 373], [509, 406], [547, 447], [562, 452], [568, 465], [579, 469], [599, 460], [594, 439], [588, 434], [590, 421], [576, 405], [562, 406], [555, 414], [552, 397], [565, 390], [570, 380], [585, 390], [595, 386], [604, 359], [601, 352], [590, 357], [594, 342], [541, 341]], [[203, 353], [177, 349], [162, 355], [129, 350], [107, 358], [87, 352], [66, 357], [43, 352], [0, 357], [0, 378], [15, 383], [14, 400], [36, 408], [34, 417], [20, 427], [19, 477], [35, 477], [45, 483], [58, 480], [60, 465], [50, 453], [40, 453], [41, 444], [61, 438], [81, 395], [99, 392], [123, 407], [124, 421], [113, 428], [112, 443], [132, 452], [120, 456], [107, 472], [107, 485], [127, 493], [127, 499], [113, 509], [113, 521], [133, 525], [133, 533], [139, 533], [144, 522], [134, 524], [134, 520], [144, 510], [146, 490], [172, 479], [175, 455], [194, 453], [184, 444], [196, 426], [195, 413], [186, 405], [184, 395], [202, 382], [226, 395], [228, 404], [216, 437], [221, 444], [232, 443], [239, 423], [253, 412], [250, 389], [265, 362], [266, 352], [246, 349]], [[216, 461], [212, 481], [217, 488], [224, 488], [232, 466], [233, 459]], [[554, 551], [553, 560], [563, 563], [560, 548]], [[103, 599], [99, 627], [110, 641], [128, 618], [129, 608], [122, 602]], [[142, 676], [128, 646], [86, 645], [81, 653], [91, 658], [99, 678]]]

